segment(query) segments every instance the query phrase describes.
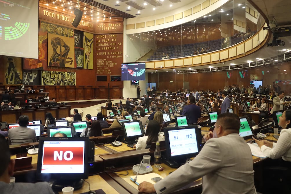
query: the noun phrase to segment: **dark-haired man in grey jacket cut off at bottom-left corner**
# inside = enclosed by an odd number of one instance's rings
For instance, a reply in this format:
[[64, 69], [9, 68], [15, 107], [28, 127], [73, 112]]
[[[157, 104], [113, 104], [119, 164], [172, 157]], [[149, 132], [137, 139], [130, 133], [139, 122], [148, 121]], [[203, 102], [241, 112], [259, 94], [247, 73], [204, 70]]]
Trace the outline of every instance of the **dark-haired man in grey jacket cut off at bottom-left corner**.
[[[38, 183], [10, 183], [10, 176], [13, 176], [14, 159], [10, 159], [10, 150], [4, 136], [0, 135], [0, 191], [8, 193], [43, 193], [54, 194], [47, 182]], [[25, 191], [25, 192], [24, 192]]]

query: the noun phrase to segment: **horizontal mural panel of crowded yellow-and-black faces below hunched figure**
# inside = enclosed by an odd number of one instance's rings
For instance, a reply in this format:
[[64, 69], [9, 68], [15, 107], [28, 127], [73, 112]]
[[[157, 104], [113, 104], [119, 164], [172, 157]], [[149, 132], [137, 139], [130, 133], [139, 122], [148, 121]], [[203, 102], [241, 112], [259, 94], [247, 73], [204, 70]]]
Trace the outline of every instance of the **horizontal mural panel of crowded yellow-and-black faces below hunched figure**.
[[42, 71], [43, 86], [76, 86], [76, 72]]

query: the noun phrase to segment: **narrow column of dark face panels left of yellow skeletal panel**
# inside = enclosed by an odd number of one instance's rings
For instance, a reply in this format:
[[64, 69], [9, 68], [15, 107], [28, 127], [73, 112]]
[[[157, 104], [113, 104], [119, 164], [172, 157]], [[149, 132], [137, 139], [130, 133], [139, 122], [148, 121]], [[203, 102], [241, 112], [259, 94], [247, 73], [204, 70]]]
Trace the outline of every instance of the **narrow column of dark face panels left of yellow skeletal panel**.
[[75, 63], [77, 68], [84, 68], [84, 48], [83, 48], [84, 33], [79, 30], [75, 30]]

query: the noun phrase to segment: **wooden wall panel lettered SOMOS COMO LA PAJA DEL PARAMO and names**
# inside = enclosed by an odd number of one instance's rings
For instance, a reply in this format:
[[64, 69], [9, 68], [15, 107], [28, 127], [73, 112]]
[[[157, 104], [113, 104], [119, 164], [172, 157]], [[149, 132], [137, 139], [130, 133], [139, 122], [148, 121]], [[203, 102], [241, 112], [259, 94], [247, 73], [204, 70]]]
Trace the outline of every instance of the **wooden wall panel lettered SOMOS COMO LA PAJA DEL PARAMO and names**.
[[120, 75], [123, 61], [123, 34], [95, 36], [96, 75]]

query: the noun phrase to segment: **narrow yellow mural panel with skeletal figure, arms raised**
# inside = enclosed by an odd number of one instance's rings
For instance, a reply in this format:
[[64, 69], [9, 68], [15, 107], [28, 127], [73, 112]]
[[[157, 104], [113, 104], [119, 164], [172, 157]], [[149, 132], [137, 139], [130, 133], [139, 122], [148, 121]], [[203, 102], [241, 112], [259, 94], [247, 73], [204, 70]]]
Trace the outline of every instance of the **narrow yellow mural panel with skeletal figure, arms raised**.
[[91, 52], [94, 48], [93, 40], [94, 35], [91, 33], [84, 32], [84, 51], [85, 51], [85, 59], [84, 59], [84, 69], [93, 70], [93, 52]]

